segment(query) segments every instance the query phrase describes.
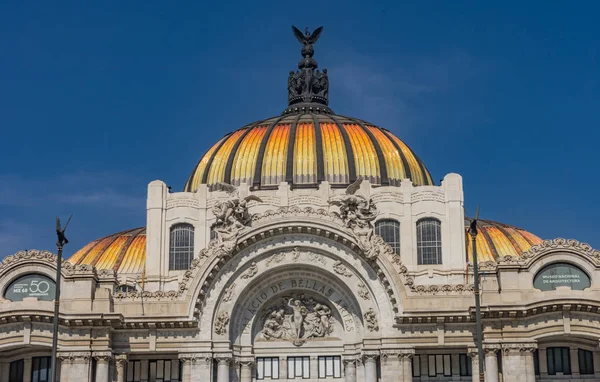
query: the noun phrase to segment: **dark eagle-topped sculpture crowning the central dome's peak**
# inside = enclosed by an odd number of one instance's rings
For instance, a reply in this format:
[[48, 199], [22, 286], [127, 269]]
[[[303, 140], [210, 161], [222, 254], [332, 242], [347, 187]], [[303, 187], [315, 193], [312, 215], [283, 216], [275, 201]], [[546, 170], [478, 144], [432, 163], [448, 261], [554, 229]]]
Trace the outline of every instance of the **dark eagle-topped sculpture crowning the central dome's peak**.
[[313, 58], [315, 54], [313, 45], [319, 39], [323, 27], [315, 29], [313, 33], [310, 33], [308, 28], [302, 33], [295, 26], [292, 26], [292, 30], [296, 39], [302, 44], [302, 59], [298, 62], [300, 70], [290, 71], [288, 77], [288, 105], [296, 107], [289, 108], [286, 112], [310, 107], [314, 111], [331, 113], [327, 107], [329, 104], [327, 69], [319, 71], [317, 61]]

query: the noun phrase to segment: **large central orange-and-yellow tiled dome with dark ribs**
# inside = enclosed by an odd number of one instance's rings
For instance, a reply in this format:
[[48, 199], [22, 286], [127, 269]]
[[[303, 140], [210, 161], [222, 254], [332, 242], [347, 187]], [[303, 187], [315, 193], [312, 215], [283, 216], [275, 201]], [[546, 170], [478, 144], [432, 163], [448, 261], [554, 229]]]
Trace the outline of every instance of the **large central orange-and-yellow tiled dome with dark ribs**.
[[433, 185], [425, 164], [398, 137], [371, 123], [334, 114], [284, 114], [223, 137], [200, 159], [185, 185], [247, 183], [255, 188], [347, 186], [356, 179], [382, 186]]

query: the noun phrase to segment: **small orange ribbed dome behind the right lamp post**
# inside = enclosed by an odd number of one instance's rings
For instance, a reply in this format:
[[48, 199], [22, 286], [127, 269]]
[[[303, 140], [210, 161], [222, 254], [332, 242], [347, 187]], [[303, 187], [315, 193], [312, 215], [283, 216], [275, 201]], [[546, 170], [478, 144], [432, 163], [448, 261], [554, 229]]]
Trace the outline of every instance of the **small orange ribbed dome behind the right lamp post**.
[[[472, 219], [465, 218], [467, 261], [473, 263], [473, 247], [468, 234]], [[534, 245], [541, 244], [542, 239], [524, 229], [490, 220], [477, 220], [479, 234], [475, 239], [477, 259], [493, 261], [504, 256], [519, 257]]]

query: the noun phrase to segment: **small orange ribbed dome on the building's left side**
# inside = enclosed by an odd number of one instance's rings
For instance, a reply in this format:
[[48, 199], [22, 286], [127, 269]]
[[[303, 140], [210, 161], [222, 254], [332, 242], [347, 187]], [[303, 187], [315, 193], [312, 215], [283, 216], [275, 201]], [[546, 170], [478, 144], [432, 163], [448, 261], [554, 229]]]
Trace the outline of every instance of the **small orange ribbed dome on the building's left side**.
[[113, 269], [120, 274], [140, 274], [146, 265], [146, 228], [136, 228], [92, 241], [67, 260]]

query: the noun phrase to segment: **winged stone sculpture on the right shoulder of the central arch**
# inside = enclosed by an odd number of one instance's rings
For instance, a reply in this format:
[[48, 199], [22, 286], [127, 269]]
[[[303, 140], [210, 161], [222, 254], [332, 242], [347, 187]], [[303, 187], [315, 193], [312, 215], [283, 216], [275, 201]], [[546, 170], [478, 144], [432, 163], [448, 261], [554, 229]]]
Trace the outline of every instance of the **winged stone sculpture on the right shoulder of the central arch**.
[[345, 195], [334, 196], [329, 199], [329, 203], [340, 208], [339, 214], [334, 214], [342, 219], [344, 227], [356, 238], [365, 257], [373, 260], [386, 251], [386, 247], [389, 246], [380, 236], [375, 235], [373, 220], [378, 214], [375, 203], [372, 199], [356, 193], [360, 189], [361, 183], [362, 179], [358, 179], [348, 186]]

